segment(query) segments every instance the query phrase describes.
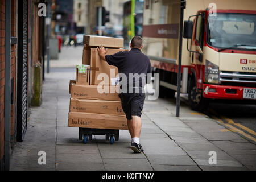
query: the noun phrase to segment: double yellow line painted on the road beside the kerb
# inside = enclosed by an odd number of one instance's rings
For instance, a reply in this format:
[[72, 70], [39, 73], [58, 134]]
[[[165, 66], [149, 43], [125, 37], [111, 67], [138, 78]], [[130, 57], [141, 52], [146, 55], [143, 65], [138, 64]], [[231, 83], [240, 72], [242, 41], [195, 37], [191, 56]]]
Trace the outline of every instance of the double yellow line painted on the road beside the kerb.
[[[251, 129], [241, 125], [240, 123], [235, 123], [232, 119], [229, 119], [229, 118], [227, 118], [225, 116], [222, 116], [222, 115], [218, 115], [212, 109], [210, 109], [210, 113], [214, 114], [214, 115], [211, 114], [210, 117], [212, 117], [213, 119], [216, 119], [218, 122], [220, 122], [220, 123], [224, 124], [225, 126], [227, 126], [230, 129], [229, 131], [240, 133], [244, 137], [249, 138], [249, 139], [253, 140], [254, 142], [256, 142], [256, 138], [254, 138], [254, 136], [256, 136], [256, 132], [255, 131], [253, 131], [253, 130], [251, 130]], [[227, 121], [228, 123], [225, 123], [224, 120]], [[242, 131], [242, 130], [238, 129], [237, 127], [234, 127], [234, 126], [238, 126], [240, 129], [243, 129], [243, 130], [247, 131], [247, 133], [250, 133], [253, 136], [245, 133], [244, 131]]]

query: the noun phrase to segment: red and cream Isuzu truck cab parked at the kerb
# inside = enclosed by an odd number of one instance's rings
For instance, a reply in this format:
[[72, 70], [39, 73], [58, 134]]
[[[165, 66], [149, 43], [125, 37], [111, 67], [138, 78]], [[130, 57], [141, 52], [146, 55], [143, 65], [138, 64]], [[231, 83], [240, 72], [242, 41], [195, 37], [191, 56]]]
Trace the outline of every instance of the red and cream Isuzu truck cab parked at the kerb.
[[255, 101], [256, 11], [216, 10], [213, 14], [206, 9], [192, 17], [193, 22], [184, 22], [184, 35], [189, 32], [191, 38], [187, 50], [192, 109], [203, 110], [212, 100]]

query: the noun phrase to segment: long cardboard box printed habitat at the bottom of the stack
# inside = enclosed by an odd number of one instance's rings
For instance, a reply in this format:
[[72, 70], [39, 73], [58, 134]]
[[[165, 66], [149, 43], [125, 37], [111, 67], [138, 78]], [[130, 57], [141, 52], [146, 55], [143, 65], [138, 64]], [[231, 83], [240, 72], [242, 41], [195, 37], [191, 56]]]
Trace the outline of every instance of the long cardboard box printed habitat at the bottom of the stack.
[[124, 115], [69, 112], [68, 127], [128, 130]]

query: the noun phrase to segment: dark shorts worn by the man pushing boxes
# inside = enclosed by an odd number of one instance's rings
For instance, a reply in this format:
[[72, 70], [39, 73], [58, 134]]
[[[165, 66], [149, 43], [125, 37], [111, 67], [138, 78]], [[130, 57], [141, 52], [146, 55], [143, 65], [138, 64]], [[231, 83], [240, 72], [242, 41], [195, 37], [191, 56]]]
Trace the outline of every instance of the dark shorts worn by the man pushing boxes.
[[131, 116], [141, 117], [146, 94], [121, 93], [119, 97], [121, 98], [122, 108], [128, 120], [131, 120]]

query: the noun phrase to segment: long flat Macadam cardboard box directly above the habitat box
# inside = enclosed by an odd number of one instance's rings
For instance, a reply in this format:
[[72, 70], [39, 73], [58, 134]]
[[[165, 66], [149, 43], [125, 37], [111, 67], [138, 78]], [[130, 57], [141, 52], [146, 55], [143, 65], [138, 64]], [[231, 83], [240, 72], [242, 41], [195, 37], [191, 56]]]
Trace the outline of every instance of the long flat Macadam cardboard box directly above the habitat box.
[[95, 114], [125, 115], [120, 101], [71, 98], [69, 111]]

